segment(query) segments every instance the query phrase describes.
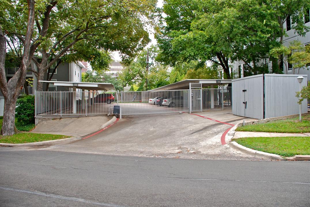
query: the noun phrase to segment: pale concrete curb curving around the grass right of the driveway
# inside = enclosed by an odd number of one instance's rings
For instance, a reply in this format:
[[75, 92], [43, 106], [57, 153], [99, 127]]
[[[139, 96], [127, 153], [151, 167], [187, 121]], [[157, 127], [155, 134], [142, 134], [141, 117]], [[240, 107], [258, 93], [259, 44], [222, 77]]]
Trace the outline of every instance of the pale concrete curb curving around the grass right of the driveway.
[[[304, 113], [302, 115], [309, 115], [310, 113]], [[282, 116], [282, 117], [275, 117], [275, 118], [268, 118], [268, 119], [260, 119], [255, 121], [247, 121], [245, 122], [245, 125], [249, 124], [256, 124], [256, 123], [267, 123], [269, 121], [275, 121], [275, 120], [285, 120], [290, 119], [294, 117], [298, 117], [299, 114], [296, 115], [290, 115], [290, 116]], [[247, 147], [242, 146], [241, 144], [238, 144], [237, 142], [232, 142], [232, 138], [235, 136], [236, 128], [243, 125], [243, 122], [236, 124], [233, 126], [226, 134], [225, 136], [225, 142], [228, 143], [228, 146], [230, 146], [233, 149], [237, 149], [241, 152], [253, 155], [254, 157], [259, 158], [265, 158], [265, 159], [272, 159], [272, 160], [298, 160], [298, 161], [310, 161], [310, 155], [295, 155], [294, 157], [286, 157], [283, 158], [280, 155], [277, 154], [271, 154], [271, 153], [265, 153], [257, 150], [253, 150]], [[306, 133], [308, 134], [308, 133]]]

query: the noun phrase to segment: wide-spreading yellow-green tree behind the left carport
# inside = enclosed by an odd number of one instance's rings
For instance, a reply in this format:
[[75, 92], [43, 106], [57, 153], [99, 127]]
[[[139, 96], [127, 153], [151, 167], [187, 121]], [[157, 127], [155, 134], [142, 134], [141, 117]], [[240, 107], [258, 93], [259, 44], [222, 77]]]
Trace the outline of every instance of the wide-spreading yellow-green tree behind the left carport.
[[[33, 58], [38, 67], [38, 71], [33, 71], [37, 79], [43, 80], [51, 65], [68, 54], [71, 60], [93, 60], [91, 56], [94, 56], [96, 61], [90, 63], [97, 70], [108, 68], [109, 62], [98, 58], [102, 57], [103, 51], [121, 51], [126, 58], [132, 58], [149, 41], [148, 32], [144, 30], [146, 21], [139, 17], [144, 16], [149, 21], [155, 11], [152, 9], [154, 4], [155, 1], [140, 0], [117, 4], [105, 0], [58, 3], [49, 35], [38, 48], [38, 56], [42, 58]], [[40, 30], [38, 20], [36, 25]], [[101, 67], [98, 67], [98, 61]], [[37, 87], [41, 90], [42, 82]]]

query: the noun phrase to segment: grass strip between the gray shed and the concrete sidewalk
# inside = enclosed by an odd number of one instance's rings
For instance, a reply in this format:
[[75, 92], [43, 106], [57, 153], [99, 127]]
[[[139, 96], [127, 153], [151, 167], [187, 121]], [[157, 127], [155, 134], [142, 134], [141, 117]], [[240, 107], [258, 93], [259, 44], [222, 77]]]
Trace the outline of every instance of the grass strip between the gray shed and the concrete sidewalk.
[[301, 122], [299, 117], [277, 120], [267, 123], [250, 124], [241, 126], [236, 131], [242, 132], [276, 132], [276, 133], [309, 133], [310, 116], [303, 116]]

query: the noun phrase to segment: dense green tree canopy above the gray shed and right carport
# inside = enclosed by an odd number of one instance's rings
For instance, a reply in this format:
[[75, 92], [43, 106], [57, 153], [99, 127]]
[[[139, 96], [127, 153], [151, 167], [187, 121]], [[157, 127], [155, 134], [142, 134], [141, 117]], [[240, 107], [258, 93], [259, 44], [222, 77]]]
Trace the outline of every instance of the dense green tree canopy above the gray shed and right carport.
[[[170, 65], [210, 61], [228, 79], [229, 61], [245, 62], [249, 75], [268, 72], [261, 60], [272, 60], [269, 51], [281, 45], [286, 19], [299, 35], [309, 31], [303, 19], [307, 8], [309, 1], [302, 0], [167, 0], [166, 25], [156, 35], [159, 59]], [[274, 61], [272, 72], [281, 72]]]

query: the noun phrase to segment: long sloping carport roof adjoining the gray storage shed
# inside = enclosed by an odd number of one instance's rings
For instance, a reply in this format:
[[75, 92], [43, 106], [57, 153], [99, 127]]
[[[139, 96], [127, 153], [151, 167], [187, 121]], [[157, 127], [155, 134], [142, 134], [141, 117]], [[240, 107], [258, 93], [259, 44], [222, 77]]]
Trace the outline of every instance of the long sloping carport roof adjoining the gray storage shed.
[[231, 79], [187, 79], [173, 84], [165, 85], [159, 88], [152, 89], [150, 91], [163, 91], [163, 90], [184, 90], [189, 89], [189, 83], [202, 84], [202, 87], [211, 85], [225, 85], [232, 83]]

